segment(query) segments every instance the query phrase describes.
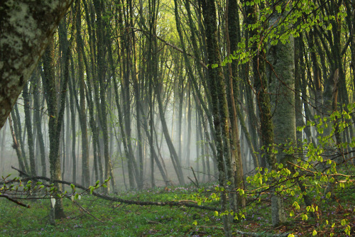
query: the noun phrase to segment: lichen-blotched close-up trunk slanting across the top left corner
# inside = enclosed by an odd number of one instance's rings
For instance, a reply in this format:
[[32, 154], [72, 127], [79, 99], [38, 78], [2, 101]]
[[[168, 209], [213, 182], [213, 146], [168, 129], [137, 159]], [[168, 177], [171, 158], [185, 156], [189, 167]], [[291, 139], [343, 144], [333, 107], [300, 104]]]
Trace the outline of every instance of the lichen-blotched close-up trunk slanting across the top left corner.
[[72, 0], [0, 3], [0, 128]]

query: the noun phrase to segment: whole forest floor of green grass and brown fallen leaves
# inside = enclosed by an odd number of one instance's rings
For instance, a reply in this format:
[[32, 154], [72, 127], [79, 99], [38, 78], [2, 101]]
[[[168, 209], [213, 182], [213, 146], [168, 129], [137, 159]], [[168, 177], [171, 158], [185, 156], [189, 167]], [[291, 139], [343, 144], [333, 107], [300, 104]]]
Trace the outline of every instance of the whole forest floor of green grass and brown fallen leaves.
[[[215, 197], [217, 185], [210, 183], [197, 189], [193, 186], [146, 189], [124, 192], [122, 199], [149, 202], [192, 200], [204, 206], [219, 207]], [[288, 222], [278, 228], [271, 225], [271, 199], [261, 194], [258, 199], [248, 197], [245, 218], [233, 223], [233, 236], [241, 232], [269, 234], [292, 233], [294, 236], [346, 236], [351, 227], [355, 235], [355, 187], [334, 192], [334, 197], [317, 200], [315, 217], [305, 220], [300, 210], [294, 209], [294, 197], [284, 199]], [[209, 202], [205, 202], [209, 200]], [[0, 199], [0, 236], [224, 236], [222, 217], [215, 211], [186, 206], [138, 206], [109, 202], [92, 195], [82, 195], [72, 202], [64, 199], [67, 218], [50, 225], [50, 199], [23, 200], [31, 208]], [[310, 216], [310, 215], [309, 215]], [[344, 222], [346, 220], [346, 223]], [[342, 221], [343, 220], [343, 221]], [[315, 231], [316, 234], [315, 234]], [[247, 236], [247, 235], [245, 235]]]

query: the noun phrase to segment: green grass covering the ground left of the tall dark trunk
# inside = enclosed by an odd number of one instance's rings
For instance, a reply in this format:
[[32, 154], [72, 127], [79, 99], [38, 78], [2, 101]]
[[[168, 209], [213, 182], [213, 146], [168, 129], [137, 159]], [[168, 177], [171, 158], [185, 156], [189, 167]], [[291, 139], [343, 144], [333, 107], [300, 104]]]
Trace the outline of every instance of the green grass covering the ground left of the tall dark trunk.
[[[191, 187], [151, 189], [143, 192], [120, 194], [124, 199], [141, 201], [171, 201], [189, 199]], [[196, 191], [196, 189], [194, 189]], [[221, 236], [219, 228], [204, 230], [202, 224], [222, 226], [221, 221], [206, 221], [212, 211], [190, 209], [185, 206], [137, 206], [108, 202], [91, 195], [77, 201], [79, 206], [64, 199], [66, 219], [49, 224], [50, 201], [24, 201], [26, 209], [6, 199], [0, 199], [0, 236]], [[100, 221], [99, 221], [99, 220]], [[197, 226], [193, 222], [198, 220]], [[208, 233], [208, 235], [207, 235]]]

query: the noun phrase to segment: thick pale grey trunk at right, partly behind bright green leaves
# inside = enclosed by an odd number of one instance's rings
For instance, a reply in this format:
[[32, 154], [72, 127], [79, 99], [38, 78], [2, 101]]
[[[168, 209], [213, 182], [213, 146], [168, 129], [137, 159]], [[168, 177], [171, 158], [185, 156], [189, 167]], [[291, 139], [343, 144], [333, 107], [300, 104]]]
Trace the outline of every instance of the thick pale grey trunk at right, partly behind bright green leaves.
[[[274, 26], [283, 18], [273, 13], [269, 26]], [[283, 31], [281, 31], [283, 32]], [[274, 142], [284, 144], [292, 142], [296, 145], [296, 117], [295, 117], [295, 48], [293, 37], [289, 41], [272, 45], [268, 50], [268, 60], [271, 69], [269, 79], [271, 92], [275, 95], [273, 105]], [[283, 153], [283, 145], [278, 147], [277, 162], [285, 163], [289, 156]], [[283, 199], [274, 195], [271, 199], [273, 226], [279, 226], [286, 220]]]

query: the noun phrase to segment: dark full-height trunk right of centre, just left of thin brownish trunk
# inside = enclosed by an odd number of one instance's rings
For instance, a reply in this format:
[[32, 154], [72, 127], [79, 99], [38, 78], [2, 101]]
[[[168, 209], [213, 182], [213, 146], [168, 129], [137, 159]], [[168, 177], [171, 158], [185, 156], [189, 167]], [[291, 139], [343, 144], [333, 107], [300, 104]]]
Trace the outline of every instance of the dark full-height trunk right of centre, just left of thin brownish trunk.
[[[217, 16], [214, 1], [202, 1], [202, 13], [206, 28], [206, 43], [209, 91], [211, 92], [212, 114], [215, 131], [215, 143], [217, 147], [217, 167], [219, 170], [219, 185], [226, 186], [226, 175], [231, 177], [231, 150], [229, 144], [229, 112], [226, 101], [226, 91], [224, 76], [221, 65], [221, 55], [219, 54], [219, 44], [217, 41]], [[217, 65], [217, 67], [214, 67]], [[213, 68], [214, 67], [214, 68]], [[230, 180], [232, 183], [234, 180]], [[234, 199], [229, 200], [231, 207], [234, 207]], [[228, 210], [225, 192], [221, 193], [221, 211]], [[230, 216], [223, 216], [224, 233], [231, 236]]]

